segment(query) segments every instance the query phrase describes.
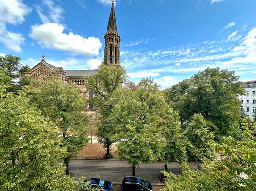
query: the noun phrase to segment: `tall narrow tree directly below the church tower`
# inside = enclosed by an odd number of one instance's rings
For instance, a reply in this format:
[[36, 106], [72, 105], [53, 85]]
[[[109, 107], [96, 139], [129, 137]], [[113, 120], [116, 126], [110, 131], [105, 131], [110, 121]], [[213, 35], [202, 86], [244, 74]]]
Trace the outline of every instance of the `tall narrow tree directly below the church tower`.
[[113, 144], [110, 135], [113, 125], [107, 120], [107, 117], [111, 114], [111, 109], [115, 104], [115, 101], [111, 102], [110, 98], [113, 94], [122, 88], [122, 83], [127, 79], [126, 71], [122, 67], [100, 65], [99, 69], [96, 69], [93, 76], [87, 77], [85, 86], [91, 92], [94, 97], [89, 99], [89, 102], [94, 104], [98, 113], [98, 131], [97, 139], [99, 143], [102, 143], [106, 148], [106, 158], [110, 158], [110, 145]]

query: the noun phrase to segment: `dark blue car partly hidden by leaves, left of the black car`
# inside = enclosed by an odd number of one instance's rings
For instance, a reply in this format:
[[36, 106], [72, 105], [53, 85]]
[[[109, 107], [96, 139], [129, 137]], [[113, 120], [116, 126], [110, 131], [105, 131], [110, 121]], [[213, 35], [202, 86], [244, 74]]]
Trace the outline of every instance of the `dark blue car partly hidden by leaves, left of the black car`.
[[[95, 188], [99, 191], [113, 191], [113, 184], [110, 181], [102, 180], [99, 178], [91, 178], [85, 180], [84, 183], [88, 182], [90, 188]], [[86, 191], [86, 189], [81, 189], [81, 191]]]

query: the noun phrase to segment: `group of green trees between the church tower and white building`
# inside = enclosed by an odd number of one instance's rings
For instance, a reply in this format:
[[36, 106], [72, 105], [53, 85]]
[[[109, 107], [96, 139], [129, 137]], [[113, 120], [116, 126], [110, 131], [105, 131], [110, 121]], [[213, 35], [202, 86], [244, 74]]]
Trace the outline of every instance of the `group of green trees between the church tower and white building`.
[[[214, 158], [214, 141], [241, 137], [240, 102], [244, 89], [234, 72], [206, 69], [160, 91], [151, 78], [137, 86], [123, 68], [100, 66], [86, 81], [99, 114], [99, 142], [118, 142], [118, 155], [135, 167], [157, 160]], [[122, 87], [122, 84], [124, 87]], [[174, 110], [174, 111], [173, 111]], [[180, 117], [179, 117], [180, 115]]]

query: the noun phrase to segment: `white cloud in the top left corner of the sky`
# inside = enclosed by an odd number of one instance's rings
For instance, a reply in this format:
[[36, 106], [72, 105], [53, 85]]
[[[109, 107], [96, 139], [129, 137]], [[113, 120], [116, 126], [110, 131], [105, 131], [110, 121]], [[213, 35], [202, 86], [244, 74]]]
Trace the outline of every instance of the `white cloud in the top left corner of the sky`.
[[22, 0], [0, 0], [0, 43], [9, 50], [20, 53], [25, 38], [20, 33], [8, 31], [6, 24], [21, 24], [31, 10]]

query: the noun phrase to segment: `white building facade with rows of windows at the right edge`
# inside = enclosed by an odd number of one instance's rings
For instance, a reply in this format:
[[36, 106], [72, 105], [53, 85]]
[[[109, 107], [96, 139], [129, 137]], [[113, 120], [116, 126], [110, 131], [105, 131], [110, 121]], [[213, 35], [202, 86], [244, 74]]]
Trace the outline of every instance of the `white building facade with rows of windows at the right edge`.
[[246, 115], [256, 121], [256, 80], [242, 83], [245, 87], [245, 94], [238, 96], [242, 102], [241, 109], [244, 110]]

